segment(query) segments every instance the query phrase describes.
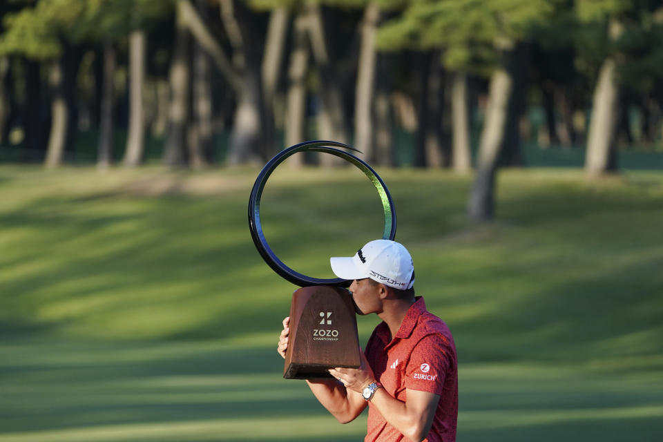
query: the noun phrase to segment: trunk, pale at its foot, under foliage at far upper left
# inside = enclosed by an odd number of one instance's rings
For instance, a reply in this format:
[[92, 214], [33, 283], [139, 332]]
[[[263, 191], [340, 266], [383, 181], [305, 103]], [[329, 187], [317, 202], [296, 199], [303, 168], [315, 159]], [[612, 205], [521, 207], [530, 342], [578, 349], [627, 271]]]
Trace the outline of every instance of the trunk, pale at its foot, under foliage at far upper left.
[[48, 82], [52, 90], [52, 120], [46, 153], [46, 167], [52, 169], [62, 163], [69, 124], [67, 102], [64, 94], [64, 57], [52, 63]]

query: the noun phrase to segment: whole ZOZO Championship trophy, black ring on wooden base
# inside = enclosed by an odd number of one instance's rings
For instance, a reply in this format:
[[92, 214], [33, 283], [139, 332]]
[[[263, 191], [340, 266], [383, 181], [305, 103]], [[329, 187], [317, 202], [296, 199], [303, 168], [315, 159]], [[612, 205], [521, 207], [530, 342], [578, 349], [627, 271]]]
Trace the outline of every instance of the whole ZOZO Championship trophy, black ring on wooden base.
[[281, 151], [262, 168], [249, 198], [249, 229], [260, 256], [279, 276], [301, 287], [294, 292], [290, 306], [290, 334], [283, 368], [286, 379], [332, 378], [327, 372], [330, 368], [358, 368], [361, 350], [355, 306], [346, 289], [352, 281], [303, 275], [287, 267], [269, 248], [260, 224], [260, 198], [269, 175], [287, 157], [299, 152], [315, 151], [343, 158], [363, 171], [378, 191], [385, 214], [383, 239], [394, 240], [396, 236], [396, 211], [387, 186], [371, 166], [340, 148], [357, 151], [332, 141], [303, 142]]

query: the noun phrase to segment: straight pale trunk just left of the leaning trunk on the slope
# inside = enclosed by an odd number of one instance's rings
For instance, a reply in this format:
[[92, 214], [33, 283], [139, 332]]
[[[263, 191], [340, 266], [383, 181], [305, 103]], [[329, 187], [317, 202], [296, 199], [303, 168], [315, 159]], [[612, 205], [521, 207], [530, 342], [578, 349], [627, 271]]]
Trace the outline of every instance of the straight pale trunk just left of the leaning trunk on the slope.
[[454, 171], [465, 173], [472, 169], [470, 151], [470, 123], [468, 111], [468, 75], [457, 72], [451, 91], [452, 161]]

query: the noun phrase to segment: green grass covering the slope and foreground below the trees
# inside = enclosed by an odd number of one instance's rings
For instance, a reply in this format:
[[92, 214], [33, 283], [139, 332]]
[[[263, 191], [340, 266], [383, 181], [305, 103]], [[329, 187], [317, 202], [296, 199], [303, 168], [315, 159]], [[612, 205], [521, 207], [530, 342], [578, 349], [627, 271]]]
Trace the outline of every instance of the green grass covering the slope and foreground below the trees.
[[[249, 237], [257, 173], [0, 167], [0, 442], [361, 439], [365, 417], [340, 425], [280, 377], [294, 287]], [[465, 223], [471, 177], [381, 175], [456, 339], [459, 441], [660, 438], [662, 173], [506, 171], [483, 226]], [[262, 219], [326, 278], [380, 211], [354, 169], [283, 168]]]

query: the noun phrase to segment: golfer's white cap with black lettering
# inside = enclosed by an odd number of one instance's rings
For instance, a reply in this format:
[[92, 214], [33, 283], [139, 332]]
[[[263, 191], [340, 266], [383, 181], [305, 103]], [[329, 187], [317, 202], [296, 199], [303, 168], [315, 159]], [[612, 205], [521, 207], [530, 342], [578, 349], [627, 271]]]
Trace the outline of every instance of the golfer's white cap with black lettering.
[[394, 289], [411, 289], [414, 285], [412, 257], [402, 244], [375, 240], [348, 258], [331, 258], [332, 271], [338, 278], [354, 280], [371, 278]]

